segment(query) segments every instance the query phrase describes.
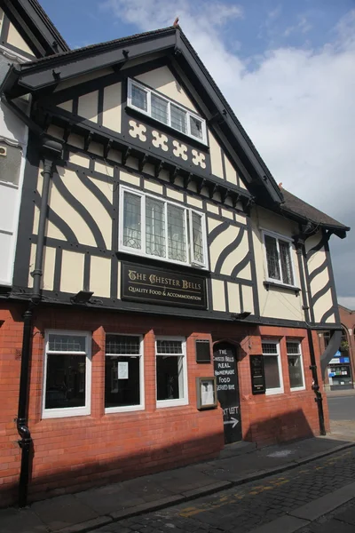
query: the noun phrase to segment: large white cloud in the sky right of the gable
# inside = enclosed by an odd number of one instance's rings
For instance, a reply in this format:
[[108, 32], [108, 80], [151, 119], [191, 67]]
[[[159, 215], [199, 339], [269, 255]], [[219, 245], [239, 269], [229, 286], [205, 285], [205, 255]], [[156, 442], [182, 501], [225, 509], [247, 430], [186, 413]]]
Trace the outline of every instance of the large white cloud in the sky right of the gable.
[[[170, 26], [178, 15], [276, 181], [355, 226], [355, 10], [335, 24], [322, 48], [280, 47], [242, 61], [223, 39], [225, 21], [242, 17], [237, 6], [212, 0], [108, 0], [105, 6], [139, 30]], [[248, 20], [234, 23], [238, 38], [238, 24]], [[309, 31], [302, 17], [300, 25]], [[355, 297], [354, 237], [334, 243], [332, 251], [338, 293]]]

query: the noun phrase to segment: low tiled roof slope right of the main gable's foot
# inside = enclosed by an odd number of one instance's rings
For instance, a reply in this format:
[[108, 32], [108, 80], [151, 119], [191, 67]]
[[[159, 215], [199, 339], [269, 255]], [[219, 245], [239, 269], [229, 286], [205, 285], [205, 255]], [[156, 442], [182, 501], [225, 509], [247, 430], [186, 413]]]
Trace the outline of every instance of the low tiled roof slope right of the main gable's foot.
[[326, 213], [323, 213], [323, 211], [319, 211], [309, 203], [304, 202], [304, 200], [292, 195], [286, 189], [282, 188], [282, 193], [284, 203], [281, 204], [280, 211], [310, 221], [316, 226], [340, 229], [343, 231], [350, 230], [350, 227], [344, 226], [341, 222], [332, 219], [332, 217], [329, 217]]

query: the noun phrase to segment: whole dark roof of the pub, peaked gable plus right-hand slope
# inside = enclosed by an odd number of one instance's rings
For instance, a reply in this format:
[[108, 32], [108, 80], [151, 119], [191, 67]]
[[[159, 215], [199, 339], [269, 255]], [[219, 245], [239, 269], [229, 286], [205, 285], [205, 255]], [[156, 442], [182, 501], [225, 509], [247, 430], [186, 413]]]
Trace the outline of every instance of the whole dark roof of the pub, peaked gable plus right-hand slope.
[[[1, 2], [2, 0], [0, 0]], [[5, 0], [6, 1], [6, 0]], [[17, 2], [36, 3], [36, 0]], [[53, 27], [54, 28], [54, 27]], [[284, 189], [280, 190], [232, 107], [226, 101], [209, 71], [203, 65], [181, 28], [162, 28], [80, 49], [62, 50], [23, 65], [12, 65], [0, 90], [7, 98], [27, 92], [54, 91], [59, 83], [106, 67], [123, 65], [127, 60], [163, 52], [199, 104], [207, 122], [221, 139], [237, 168], [240, 169], [256, 202], [282, 211], [294, 219], [348, 231], [335, 219], [313, 208]], [[193, 84], [190, 83], [193, 80]], [[340, 234], [339, 234], [340, 235]]]

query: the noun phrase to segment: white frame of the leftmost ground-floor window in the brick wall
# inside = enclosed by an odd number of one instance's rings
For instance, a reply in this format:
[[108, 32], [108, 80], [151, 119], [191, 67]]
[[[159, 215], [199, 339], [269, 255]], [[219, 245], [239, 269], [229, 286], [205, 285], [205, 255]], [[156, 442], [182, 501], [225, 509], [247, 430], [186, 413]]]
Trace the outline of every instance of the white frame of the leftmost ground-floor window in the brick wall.
[[[48, 350], [50, 335], [73, 335], [85, 338], [85, 352], [59, 352], [58, 350]], [[82, 417], [91, 414], [91, 331], [75, 331], [75, 330], [45, 330], [44, 335], [44, 362], [43, 362], [43, 402], [42, 402], [42, 418], [67, 418], [67, 417]], [[64, 407], [63, 409], [45, 409], [45, 394], [47, 390], [47, 355], [86, 355], [85, 364], [85, 405], [83, 407]]]

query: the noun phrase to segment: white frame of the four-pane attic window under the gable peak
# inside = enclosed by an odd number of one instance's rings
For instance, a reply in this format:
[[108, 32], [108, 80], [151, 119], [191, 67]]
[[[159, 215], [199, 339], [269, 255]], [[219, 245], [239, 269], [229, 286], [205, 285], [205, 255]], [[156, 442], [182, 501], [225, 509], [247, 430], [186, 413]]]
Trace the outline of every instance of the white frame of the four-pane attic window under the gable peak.
[[[146, 92], [146, 111], [144, 109], [141, 109], [140, 107], [136, 107], [133, 104], [133, 102], [132, 102], [132, 85], [136, 85], [136, 87], [138, 87], [138, 89], [140, 89], [141, 91], [145, 91]], [[167, 102], [167, 104], [168, 104], [168, 123], [164, 123], [164, 122], [160, 121], [159, 119], [157, 119], [157, 118], [152, 116], [152, 104], [151, 104], [152, 94], [154, 94], [158, 98], [163, 99], [163, 100], [165, 100]], [[150, 89], [149, 87], [146, 87], [146, 85], [140, 84], [136, 80], [132, 80], [130, 78], [128, 78], [127, 105], [129, 107], [131, 107], [132, 109], [135, 109], [139, 113], [142, 113], [143, 115], [150, 116], [151, 118], [153, 118], [153, 120], [156, 120], [156, 122], [165, 124], [166, 126], [169, 126], [172, 130], [179, 131], [180, 133], [182, 133], [182, 135], [185, 135], [187, 137], [191, 137], [191, 139], [198, 140], [202, 144], [208, 146], [207, 131], [206, 131], [206, 121], [203, 118], [201, 118], [201, 116], [197, 115], [196, 113], [193, 113], [193, 111], [190, 111], [190, 109], [187, 109], [186, 107], [181, 106], [176, 101], [167, 98], [166, 96], [162, 95], [160, 92], [154, 91], [153, 89]], [[173, 105], [175, 107], [178, 107], [179, 109], [184, 111], [184, 113], [186, 114], [186, 131], [185, 132], [177, 130], [177, 128], [174, 128], [174, 126], [171, 125], [171, 113], [170, 113], [170, 106], [171, 105]], [[198, 121], [201, 122], [201, 130], [202, 130], [202, 138], [201, 139], [200, 139], [200, 137], [195, 137], [193, 135], [193, 133], [191, 132], [190, 116], [192, 116], [193, 118], [196, 118]]]

